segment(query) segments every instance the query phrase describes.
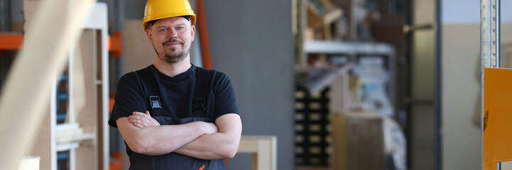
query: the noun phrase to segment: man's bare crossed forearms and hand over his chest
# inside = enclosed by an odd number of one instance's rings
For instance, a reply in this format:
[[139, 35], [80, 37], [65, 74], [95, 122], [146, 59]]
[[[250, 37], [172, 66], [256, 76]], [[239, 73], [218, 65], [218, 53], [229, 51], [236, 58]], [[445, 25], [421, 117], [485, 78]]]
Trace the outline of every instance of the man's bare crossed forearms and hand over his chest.
[[220, 116], [215, 124], [160, 125], [147, 111], [134, 112], [116, 123], [130, 149], [147, 155], [176, 152], [197, 159], [232, 158], [241, 135], [241, 119], [234, 113]]

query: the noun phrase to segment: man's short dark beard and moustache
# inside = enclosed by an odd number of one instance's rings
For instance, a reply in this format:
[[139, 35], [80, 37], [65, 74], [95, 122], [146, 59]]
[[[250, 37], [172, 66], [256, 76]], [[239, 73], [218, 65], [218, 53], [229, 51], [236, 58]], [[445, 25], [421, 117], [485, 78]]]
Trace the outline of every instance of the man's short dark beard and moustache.
[[158, 58], [160, 58], [161, 60], [164, 60], [165, 62], [167, 62], [168, 64], [174, 64], [174, 63], [177, 63], [177, 62], [181, 62], [185, 59], [185, 57], [187, 57], [188, 53], [190, 52], [190, 48], [185, 50], [185, 43], [183, 43], [182, 41], [180, 40], [176, 40], [176, 39], [171, 39], [167, 42], [163, 42], [163, 47], [165, 47], [165, 43], [168, 43], [168, 42], [180, 42], [182, 47], [181, 48], [178, 48], [178, 47], [171, 47], [171, 48], [168, 48], [168, 49], [163, 49], [163, 52], [164, 54], [160, 54], [156, 48], [155, 48], [155, 45], [153, 44], [153, 49], [155, 50], [156, 52], [156, 55], [158, 55]]

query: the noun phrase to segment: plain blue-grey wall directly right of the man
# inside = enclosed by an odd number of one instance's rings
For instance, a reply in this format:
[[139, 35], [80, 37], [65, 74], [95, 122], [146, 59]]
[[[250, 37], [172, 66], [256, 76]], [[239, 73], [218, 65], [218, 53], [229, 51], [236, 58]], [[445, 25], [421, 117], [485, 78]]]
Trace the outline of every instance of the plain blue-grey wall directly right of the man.
[[[215, 69], [232, 79], [242, 135], [277, 135], [278, 169], [293, 168], [291, 1], [205, 1]], [[250, 169], [249, 154], [229, 160]]]

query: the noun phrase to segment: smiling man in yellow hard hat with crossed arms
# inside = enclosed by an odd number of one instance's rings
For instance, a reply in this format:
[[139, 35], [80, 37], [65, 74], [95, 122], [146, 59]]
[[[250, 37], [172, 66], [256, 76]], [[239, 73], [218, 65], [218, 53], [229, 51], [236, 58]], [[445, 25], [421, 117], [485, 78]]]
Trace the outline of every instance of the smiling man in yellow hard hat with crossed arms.
[[109, 125], [119, 128], [130, 169], [226, 169], [241, 118], [231, 81], [190, 64], [195, 14], [187, 0], [149, 0], [143, 28], [156, 62], [117, 84]]

